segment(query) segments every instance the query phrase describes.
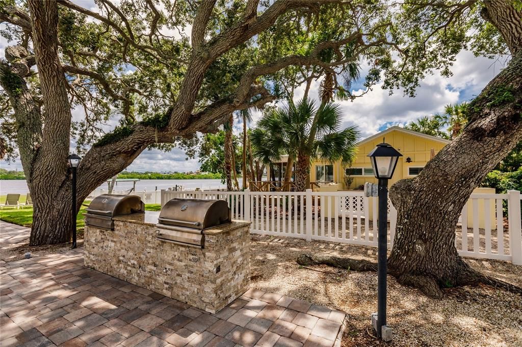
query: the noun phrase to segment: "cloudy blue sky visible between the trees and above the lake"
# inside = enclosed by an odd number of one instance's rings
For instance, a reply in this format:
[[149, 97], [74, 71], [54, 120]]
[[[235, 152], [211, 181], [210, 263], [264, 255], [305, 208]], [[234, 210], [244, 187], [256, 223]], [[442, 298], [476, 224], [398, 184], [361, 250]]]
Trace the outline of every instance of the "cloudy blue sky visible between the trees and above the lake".
[[[79, 5], [96, 8], [92, 0], [76, 0]], [[0, 26], [1, 27], [1, 26]], [[189, 32], [189, 30], [188, 30]], [[0, 38], [0, 57], [4, 57], [4, 49], [8, 43]], [[426, 77], [417, 89], [416, 97], [403, 96], [401, 91], [388, 95], [388, 90], [383, 90], [381, 84], [373, 87], [373, 90], [355, 101], [340, 102], [343, 112], [343, 127], [356, 125], [359, 127], [361, 139], [369, 137], [390, 126], [404, 126], [407, 122], [422, 116], [433, 115], [443, 111], [448, 104], [461, 103], [472, 100], [480, 93], [484, 86], [499, 73], [504, 66], [504, 60], [492, 60], [484, 57], [475, 57], [469, 51], [462, 51], [452, 68], [453, 76], [443, 78], [440, 74]], [[360, 88], [364, 82], [355, 82], [352, 86], [354, 94], [362, 92]], [[310, 97], [317, 99], [319, 84], [312, 84]], [[295, 100], [304, 94], [304, 90], [295, 92]], [[73, 111], [73, 118], [81, 117], [80, 110]], [[253, 114], [255, 124], [260, 113]], [[236, 120], [234, 131], [242, 131], [241, 120]], [[72, 142], [74, 152], [74, 142]], [[0, 167], [7, 170], [21, 170], [20, 160], [6, 163], [0, 160]], [[195, 171], [199, 169], [196, 159], [187, 159], [183, 150], [174, 148], [168, 153], [158, 150], [144, 151], [127, 168], [131, 171]]]

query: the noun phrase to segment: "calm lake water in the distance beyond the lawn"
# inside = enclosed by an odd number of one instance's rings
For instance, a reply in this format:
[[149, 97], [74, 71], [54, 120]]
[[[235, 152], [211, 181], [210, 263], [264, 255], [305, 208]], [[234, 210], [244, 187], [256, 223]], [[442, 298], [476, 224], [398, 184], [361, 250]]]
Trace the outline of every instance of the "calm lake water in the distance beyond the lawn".
[[[185, 187], [185, 190], [226, 187], [225, 184], [221, 183], [221, 180], [139, 180], [136, 182], [136, 191], [152, 191], [156, 188], [158, 190], [169, 189], [175, 187], [176, 184], [182, 185]], [[241, 180], [239, 180], [239, 184], [241, 185]], [[132, 186], [133, 182], [117, 182], [114, 190], [129, 190]], [[108, 189], [107, 184], [102, 184], [97, 190], [100, 189], [106, 191]], [[29, 188], [25, 180], [0, 180], [0, 195], [6, 195], [7, 193], [25, 194], [28, 192]]]

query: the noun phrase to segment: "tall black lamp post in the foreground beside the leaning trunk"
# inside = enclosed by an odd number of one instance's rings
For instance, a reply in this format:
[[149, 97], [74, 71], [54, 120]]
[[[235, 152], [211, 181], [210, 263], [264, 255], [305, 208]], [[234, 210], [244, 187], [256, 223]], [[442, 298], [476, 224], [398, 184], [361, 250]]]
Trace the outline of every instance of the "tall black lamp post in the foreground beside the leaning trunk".
[[379, 143], [368, 156], [371, 158], [373, 173], [378, 181], [378, 262], [377, 262], [377, 336], [382, 337], [382, 327], [386, 325], [386, 272], [388, 238], [388, 180], [392, 178], [399, 157], [402, 156], [387, 143]]

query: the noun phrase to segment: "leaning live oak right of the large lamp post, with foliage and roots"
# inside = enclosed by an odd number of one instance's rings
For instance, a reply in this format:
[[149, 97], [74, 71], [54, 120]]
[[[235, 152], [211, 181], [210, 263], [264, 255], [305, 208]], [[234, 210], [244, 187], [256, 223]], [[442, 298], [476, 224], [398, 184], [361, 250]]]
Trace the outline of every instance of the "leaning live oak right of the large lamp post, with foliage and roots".
[[[479, 274], [458, 255], [455, 225], [472, 190], [522, 140], [522, 4], [520, 1], [414, 0], [398, 12], [408, 55], [451, 59], [469, 47], [476, 54], [511, 57], [507, 66], [469, 104], [468, 123], [413, 179], [390, 188], [397, 208], [394, 247], [389, 272], [400, 283], [440, 298], [441, 288], [473, 283], [493, 284], [522, 292], [512, 284]], [[350, 264], [347, 259], [301, 256], [301, 264]]]

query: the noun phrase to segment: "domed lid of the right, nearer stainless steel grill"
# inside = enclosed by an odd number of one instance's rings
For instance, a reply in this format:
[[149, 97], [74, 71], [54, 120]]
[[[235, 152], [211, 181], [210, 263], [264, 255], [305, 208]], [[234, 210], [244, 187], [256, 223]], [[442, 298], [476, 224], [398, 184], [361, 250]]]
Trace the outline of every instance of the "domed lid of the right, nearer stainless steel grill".
[[229, 223], [230, 219], [230, 209], [224, 200], [175, 198], [161, 208], [158, 226], [203, 230]]

